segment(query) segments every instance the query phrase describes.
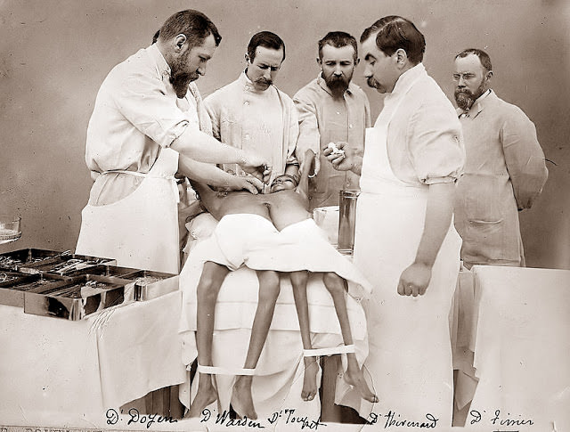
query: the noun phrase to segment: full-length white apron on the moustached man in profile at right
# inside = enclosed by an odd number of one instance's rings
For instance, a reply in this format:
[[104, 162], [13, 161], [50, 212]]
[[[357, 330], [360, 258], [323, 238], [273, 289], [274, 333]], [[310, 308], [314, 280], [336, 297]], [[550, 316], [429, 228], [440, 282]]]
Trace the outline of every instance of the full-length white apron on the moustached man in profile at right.
[[[438, 419], [436, 428], [451, 427], [448, 314], [460, 267], [461, 240], [451, 224], [424, 296], [397, 293], [400, 275], [418, 250], [429, 186], [403, 183], [394, 175], [387, 156], [390, 119], [387, 116], [366, 130], [354, 238], [354, 264], [372, 284], [370, 300], [362, 302], [370, 346], [364, 375], [371, 378], [379, 403], [372, 405], [342, 385], [337, 403], [353, 406], [368, 420], [378, 414], [382, 427], [389, 428], [387, 420], [432, 425], [430, 415]], [[384, 417], [390, 412], [393, 417]]]

